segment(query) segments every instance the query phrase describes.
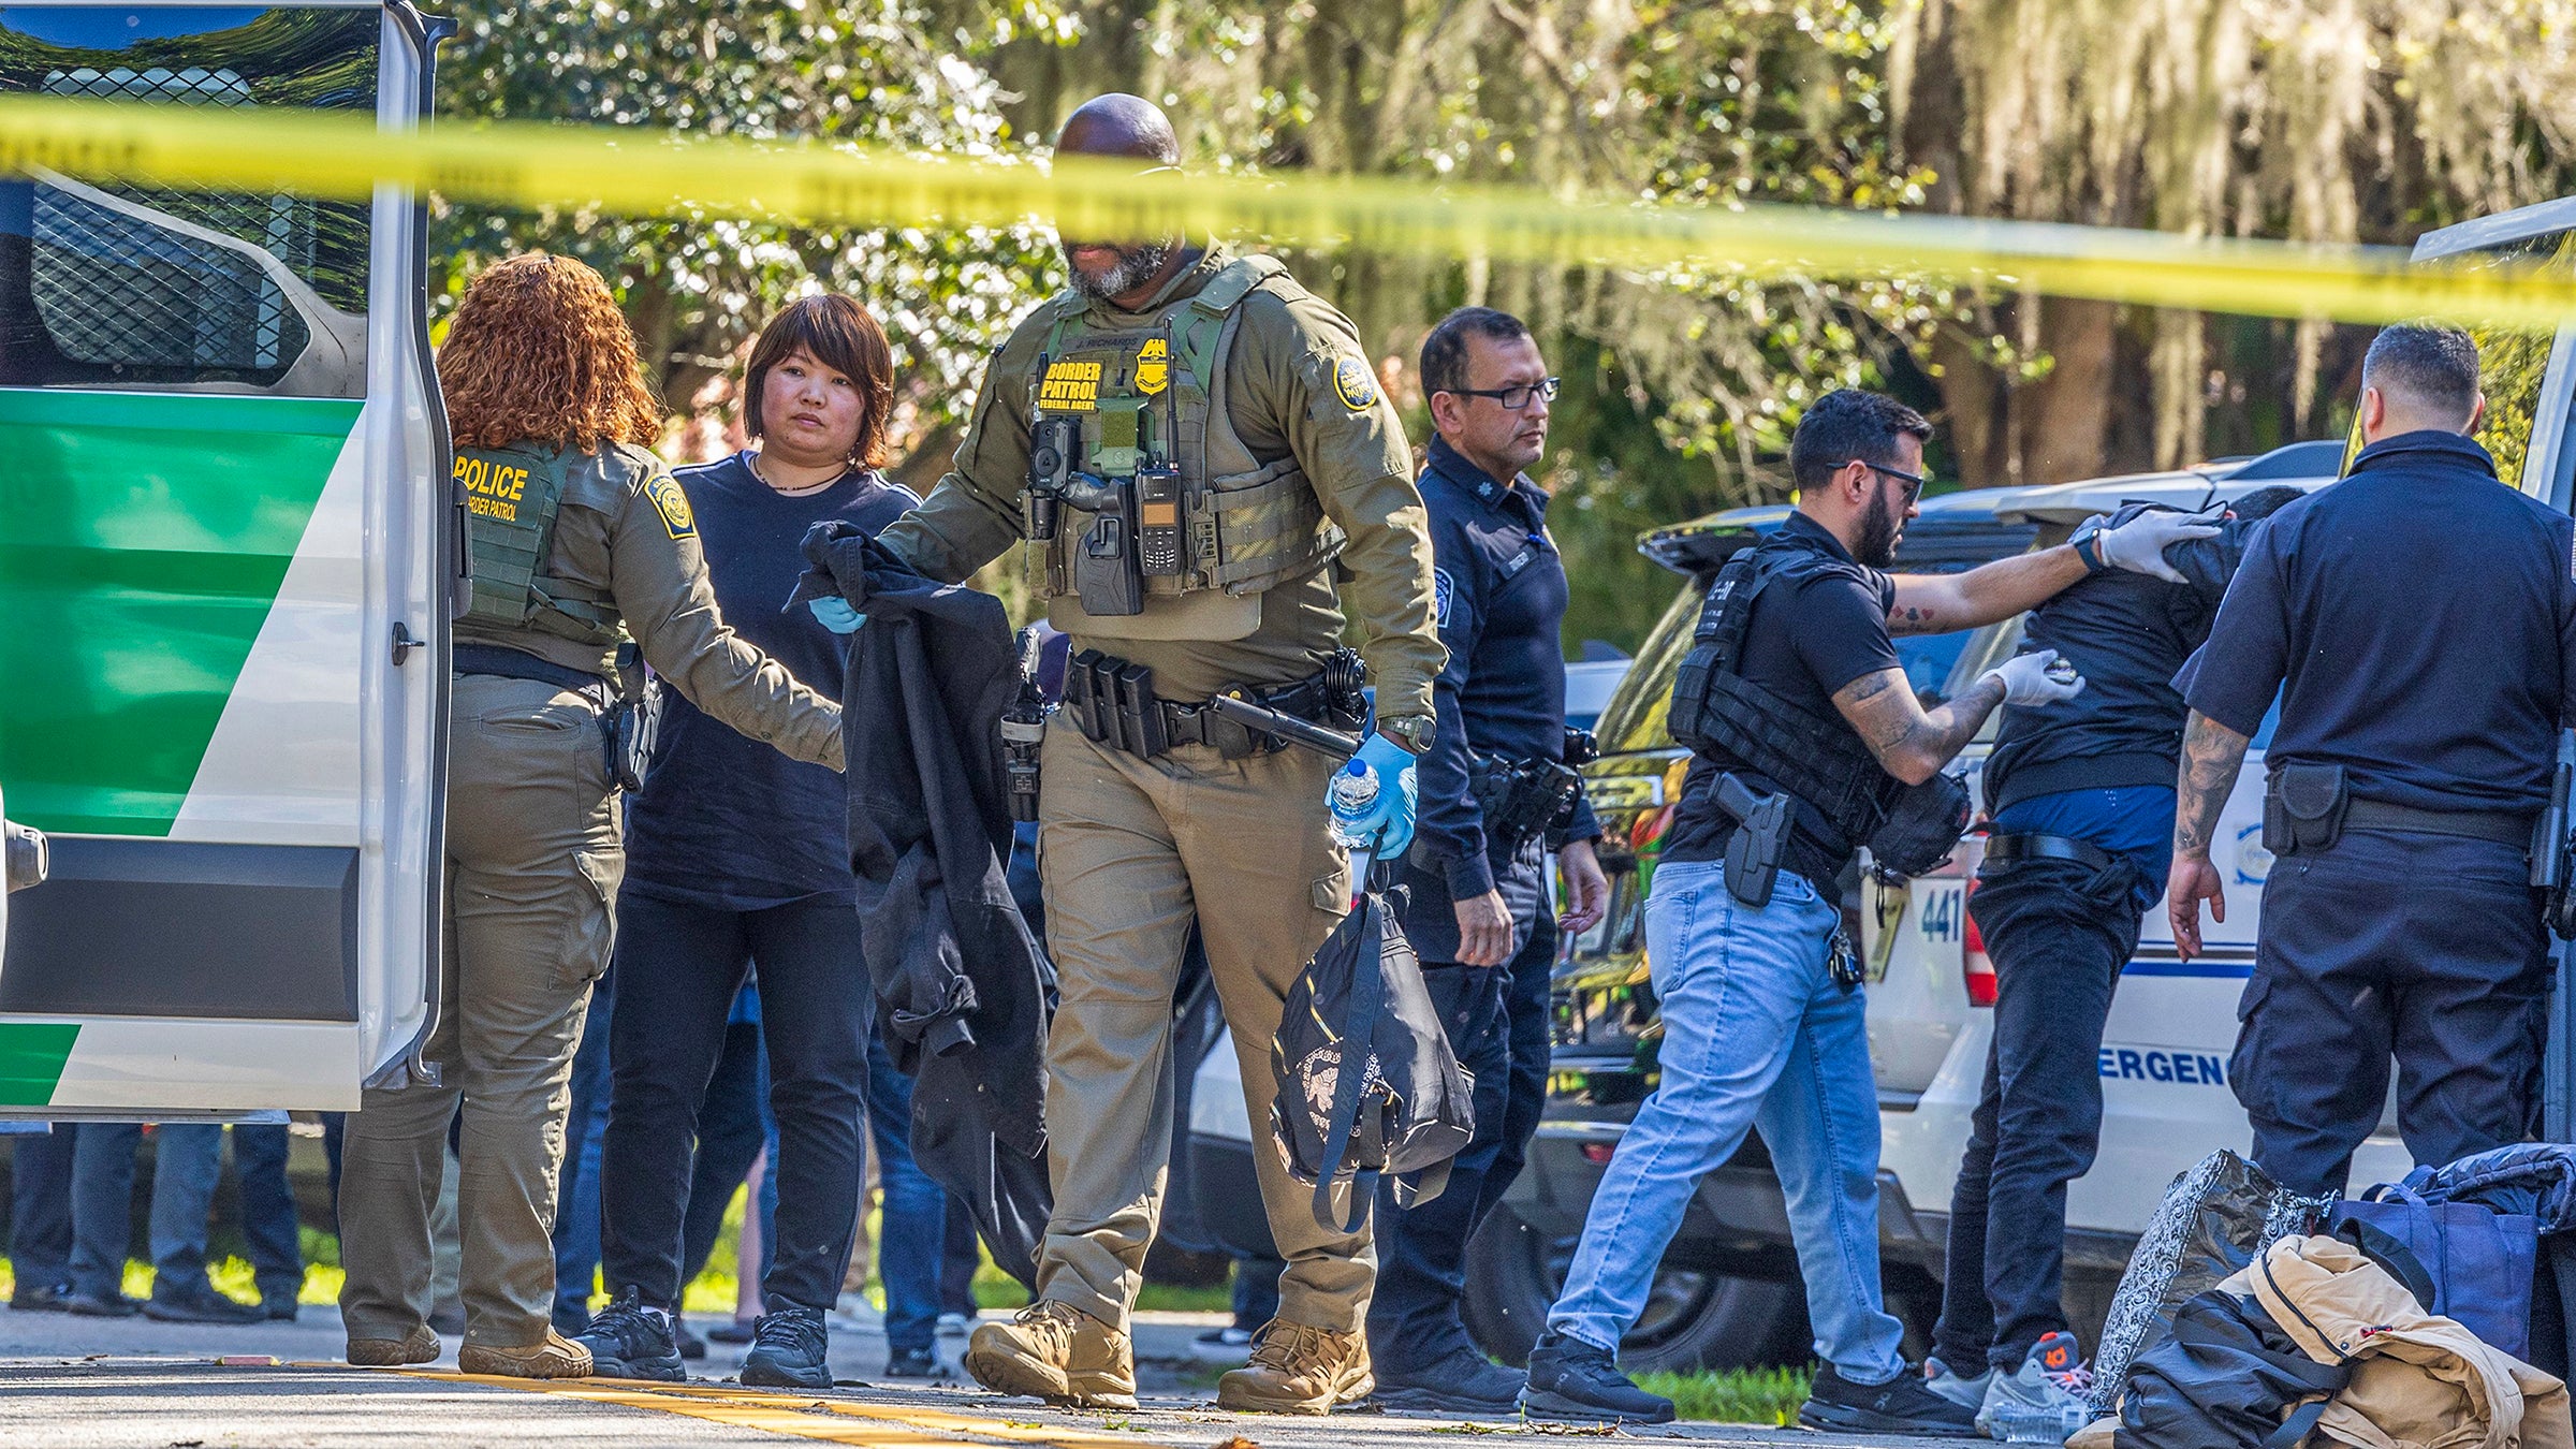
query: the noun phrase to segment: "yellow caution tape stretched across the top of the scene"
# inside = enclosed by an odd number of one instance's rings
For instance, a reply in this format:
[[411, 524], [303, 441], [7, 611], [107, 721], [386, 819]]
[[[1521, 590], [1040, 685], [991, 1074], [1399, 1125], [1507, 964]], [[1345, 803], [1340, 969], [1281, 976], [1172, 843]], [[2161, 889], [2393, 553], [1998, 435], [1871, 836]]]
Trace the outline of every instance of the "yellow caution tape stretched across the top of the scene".
[[2576, 276], [2537, 266], [2411, 266], [2396, 248], [2190, 240], [2164, 232], [1883, 217], [1801, 206], [1564, 201], [1538, 191], [1360, 175], [1051, 170], [819, 142], [618, 126], [459, 124], [379, 131], [363, 116], [0, 98], [0, 170], [142, 186], [368, 196], [376, 186], [502, 206], [734, 214], [855, 227], [999, 227], [1069, 237], [1252, 235], [1414, 255], [1772, 278], [1917, 278], [2146, 307], [2555, 327]]

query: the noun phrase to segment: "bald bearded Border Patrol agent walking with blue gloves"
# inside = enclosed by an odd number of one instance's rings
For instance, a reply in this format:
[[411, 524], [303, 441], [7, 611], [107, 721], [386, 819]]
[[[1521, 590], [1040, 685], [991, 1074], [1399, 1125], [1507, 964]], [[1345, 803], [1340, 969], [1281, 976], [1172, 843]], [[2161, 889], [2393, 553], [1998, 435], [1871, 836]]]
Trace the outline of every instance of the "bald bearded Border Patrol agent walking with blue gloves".
[[[1177, 160], [1151, 103], [1103, 95], [1059, 152]], [[1028, 539], [1072, 634], [1066, 709], [1043, 743], [1038, 866], [1061, 1006], [1048, 1036], [1054, 1220], [1038, 1299], [976, 1330], [987, 1387], [1133, 1405], [1128, 1310], [1172, 1140], [1172, 990], [1193, 918], [1267, 1122], [1280, 1006], [1350, 900], [1327, 828], [1334, 761], [1283, 750], [1206, 701], [1247, 691], [1309, 719], [1347, 709], [1334, 565], [1360, 611], [1388, 781], [1368, 828], [1412, 835], [1412, 755], [1432, 735], [1432, 549], [1412, 449], [1358, 335], [1257, 255], [1064, 242], [1074, 289], [994, 356], [956, 472], [881, 541], [961, 580]], [[1345, 717], [1358, 724], [1358, 717]], [[1218, 1405], [1327, 1413], [1370, 1390], [1368, 1235], [1327, 1232], [1311, 1189], [1257, 1152], [1288, 1269], [1278, 1318]]]

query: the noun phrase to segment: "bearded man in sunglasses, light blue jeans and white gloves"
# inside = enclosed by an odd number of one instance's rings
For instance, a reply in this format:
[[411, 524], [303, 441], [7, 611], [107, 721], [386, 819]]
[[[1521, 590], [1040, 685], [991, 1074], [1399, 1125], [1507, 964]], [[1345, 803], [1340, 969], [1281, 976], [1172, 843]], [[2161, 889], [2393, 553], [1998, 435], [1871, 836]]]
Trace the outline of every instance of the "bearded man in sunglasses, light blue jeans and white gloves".
[[[1999, 704], [2084, 688], [2020, 655], [1924, 712], [1888, 642], [2012, 619], [2092, 565], [2038, 549], [1958, 575], [1888, 575], [1924, 487], [1932, 425], [1875, 392], [1816, 400], [1790, 438], [1798, 511], [1710, 588], [1682, 681], [1698, 722], [1682, 799], [1646, 897], [1646, 962], [1664, 1011], [1662, 1080], [1620, 1140], [1548, 1330], [1530, 1348], [1533, 1418], [1672, 1418], [1618, 1372], [1620, 1338], [1703, 1173], [1762, 1127], [1788, 1199], [1821, 1359], [1798, 1421], [1860, 1434], [1976, 1436], [1976, 1415], [1906, 1372], [1878, 1289], [1878, 1096], [1837, 877], [1909, 792]], [[2164, 570], [2164, 547], [2215, 531], [2146, 513], [2099, 534], [2112, 565]], [[1935, 797], [1937, 799], [1937, 797]], [[1965, 799], [1937, 810], [1955, 835]], [[1942, 841], [1947, 843], [1947, 841]]]

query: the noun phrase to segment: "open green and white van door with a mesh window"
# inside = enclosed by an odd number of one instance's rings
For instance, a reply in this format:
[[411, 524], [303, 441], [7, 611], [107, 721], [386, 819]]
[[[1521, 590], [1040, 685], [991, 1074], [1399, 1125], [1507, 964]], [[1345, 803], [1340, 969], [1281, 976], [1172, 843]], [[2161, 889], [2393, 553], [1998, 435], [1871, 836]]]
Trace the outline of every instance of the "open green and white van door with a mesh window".
[[[412, 129], [404, 3], [0, 8], [0, 90]], [[0, 178], [0, 1116], [353, 1109], [428, 1034], [461, 549], [425, 211]]]

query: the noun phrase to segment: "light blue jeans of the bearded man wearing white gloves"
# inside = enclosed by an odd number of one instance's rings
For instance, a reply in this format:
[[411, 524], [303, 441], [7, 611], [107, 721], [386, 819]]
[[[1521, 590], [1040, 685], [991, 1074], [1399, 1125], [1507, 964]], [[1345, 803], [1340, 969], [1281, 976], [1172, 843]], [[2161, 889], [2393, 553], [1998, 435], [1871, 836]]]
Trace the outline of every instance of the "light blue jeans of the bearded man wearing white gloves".
[[1620, 1140], [1548, 1328], [1595, 1348], [1646, 1307], [1700, 1176], [1762, 1129], [1788, 1201], [1816, 1356], [1855, 1385], [1904, 1372], [1878, 1289], [1878, 1088], [1862, 993], [1826, 972], [1839, 913], [1780, 871], [1744, 908], [1718, 861], [1664, 861], [1646, 897], [1646, 969], [1664, 1013], [1662, 1080]]

